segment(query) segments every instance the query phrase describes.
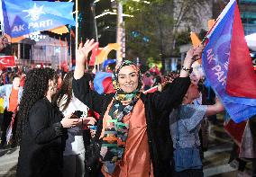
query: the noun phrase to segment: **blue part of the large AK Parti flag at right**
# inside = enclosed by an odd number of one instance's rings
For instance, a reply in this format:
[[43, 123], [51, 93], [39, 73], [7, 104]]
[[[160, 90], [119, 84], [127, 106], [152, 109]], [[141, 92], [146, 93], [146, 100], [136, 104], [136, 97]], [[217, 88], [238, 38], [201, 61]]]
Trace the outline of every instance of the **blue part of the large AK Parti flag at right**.
[[[237, 25], [233, 22], [237, 18], [235, 16], [238, 15], [237, 11], [236, 1], [231, 0], [217, 19], [213, 29], [206, 36], [208, 42], [202, 60], [207, 80], [224, 103], [228, 114], [238, 123], [256, 114], [256, 99], [231, 96], [226, 92], [226, 83], [230, 76], [228, 75], [229, 65], [233, 59], [230, 56], [233, 56], [232, 52], [239, 50], [237, 46], [233, 47], [233, 38], [236, 38], [233, 31], [241, 30], [237, 29]], [[243, 55], [240, 57], [240, 59], [244, 59]]]

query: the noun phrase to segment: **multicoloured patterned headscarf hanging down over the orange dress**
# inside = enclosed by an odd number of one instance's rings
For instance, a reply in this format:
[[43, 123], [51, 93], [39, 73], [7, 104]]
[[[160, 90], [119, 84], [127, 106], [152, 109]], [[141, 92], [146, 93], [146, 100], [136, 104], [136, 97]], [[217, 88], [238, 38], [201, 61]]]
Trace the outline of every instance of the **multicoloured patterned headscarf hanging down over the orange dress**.
[[[138, 87], [133, 93], [124, 93], [118, 84], [118, 73], [123, 66], [134, 66], [134, 69], [139, 75]], [[123, 62], [115, 67], [112, 80], [116, 93], [109, 111], [111, 119], [106, 121], [105, 134], [101, 147], [105, 172], [110, 174], [114, 173], [115, 164], [123, 157], [129, 130], [129, 124], [123, 123], [123, 117], [133, 111], [133, 106], [141, 96], [142, 76], [140, 69], [133, 62], [123, 60]]]

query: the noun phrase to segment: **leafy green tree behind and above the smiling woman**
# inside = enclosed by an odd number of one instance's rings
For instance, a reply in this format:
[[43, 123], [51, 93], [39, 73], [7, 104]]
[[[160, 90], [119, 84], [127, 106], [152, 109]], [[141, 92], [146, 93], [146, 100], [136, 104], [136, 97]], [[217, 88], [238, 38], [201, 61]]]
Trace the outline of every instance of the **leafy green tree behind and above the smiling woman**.
[[[150, 4], [123, 0], [126, 47], [139, 58], [156, 58], [165, 68], [165, 58], [177, 49], [179, 33], [200, 25], [202, 10], [207, 0], [151, 0]], [[143, 1], [144, 2], [144, 1]]]

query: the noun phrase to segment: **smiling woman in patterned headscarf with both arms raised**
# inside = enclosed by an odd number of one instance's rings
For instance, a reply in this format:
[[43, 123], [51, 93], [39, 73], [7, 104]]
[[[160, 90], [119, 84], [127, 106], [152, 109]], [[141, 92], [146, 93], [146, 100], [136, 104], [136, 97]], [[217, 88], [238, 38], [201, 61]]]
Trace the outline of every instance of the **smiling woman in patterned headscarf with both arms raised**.
[[164, 92], [143, 94], [138, 66], [123, 60], [113, 74], [116, 93], [98, 94], [89, 89], [89, 79], [84, 72], [88, 53], [96, 45], [94, 40], [79, 45], [73, 92], [102, 116], [102, 128], [97, 129], [101, 131], [102, 173], [105, 176], [163, 176], [166, 169], [162, 168], [158, 155], [161, 146], [158, 120], [162, 111], [170, 112], [182, 102], [190, 84], [191, 65], [203, 47], [189, 49], [179, 77]]

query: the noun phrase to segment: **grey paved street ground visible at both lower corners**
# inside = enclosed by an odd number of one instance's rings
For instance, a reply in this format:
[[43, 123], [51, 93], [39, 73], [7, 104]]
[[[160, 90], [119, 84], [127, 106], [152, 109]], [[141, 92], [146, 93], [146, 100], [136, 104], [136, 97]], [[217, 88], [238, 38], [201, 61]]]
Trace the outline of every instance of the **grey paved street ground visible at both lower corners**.
[[[236, 177], [236, 168], [227, 164], [233, 143], [224, 132], [223, 123], [218, 120], [210, 125], [210, 144], [205, 153], [204, 173], [206, 177]], [[0, 177], [13, 177], [17, 164], [18, 148], [0, 150]], [[242, 177], [249, 177], [251, 164], [246, 166]]]

